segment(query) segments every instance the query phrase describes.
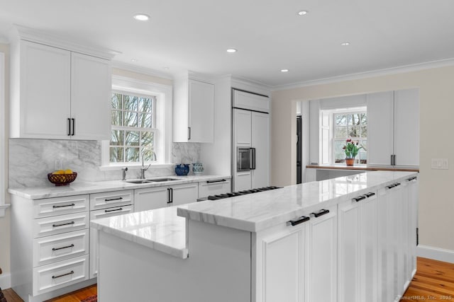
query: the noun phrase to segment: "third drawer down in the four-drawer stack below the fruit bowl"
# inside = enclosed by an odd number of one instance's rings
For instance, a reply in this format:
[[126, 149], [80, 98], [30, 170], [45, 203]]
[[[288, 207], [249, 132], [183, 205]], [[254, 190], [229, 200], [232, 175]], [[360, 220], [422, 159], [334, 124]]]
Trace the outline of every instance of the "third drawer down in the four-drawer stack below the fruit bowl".
[[33, 240], [33, 267], [82, 256], [89, 251], [89, 230], [63, 233]]

